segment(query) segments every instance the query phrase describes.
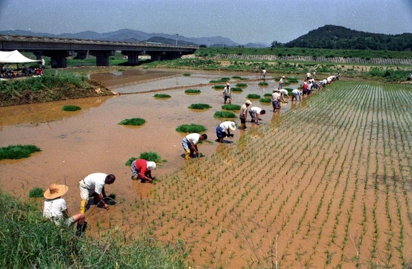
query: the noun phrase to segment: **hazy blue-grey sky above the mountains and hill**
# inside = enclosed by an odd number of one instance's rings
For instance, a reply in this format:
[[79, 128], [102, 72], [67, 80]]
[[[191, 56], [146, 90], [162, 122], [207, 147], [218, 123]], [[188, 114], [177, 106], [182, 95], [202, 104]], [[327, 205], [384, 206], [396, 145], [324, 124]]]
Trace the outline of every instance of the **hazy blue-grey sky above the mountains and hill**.
[[327, 24], [411, 33], [412, 0], [0, 0], [0, 30], [51, 34], [127, 28], [271, 44]]

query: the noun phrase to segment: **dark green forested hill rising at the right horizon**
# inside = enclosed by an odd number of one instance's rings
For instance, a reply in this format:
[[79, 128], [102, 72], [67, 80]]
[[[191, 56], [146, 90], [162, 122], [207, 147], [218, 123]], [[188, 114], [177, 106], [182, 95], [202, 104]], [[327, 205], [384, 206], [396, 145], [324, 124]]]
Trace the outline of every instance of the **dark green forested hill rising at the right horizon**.
[[272, 47], [411, 51], [412, 34], [374, 34], [342, 26], [325, 25], [285, 44], [273, 41]]

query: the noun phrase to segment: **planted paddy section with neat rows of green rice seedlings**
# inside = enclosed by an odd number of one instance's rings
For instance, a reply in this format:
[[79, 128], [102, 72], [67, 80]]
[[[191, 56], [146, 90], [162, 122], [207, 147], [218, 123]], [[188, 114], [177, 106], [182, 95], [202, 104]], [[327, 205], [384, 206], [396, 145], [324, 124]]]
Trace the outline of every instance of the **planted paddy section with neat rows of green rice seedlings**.
[[209, 268], [406, 267], [410, 91], [328, 85], [161, 178], [128, 218]]

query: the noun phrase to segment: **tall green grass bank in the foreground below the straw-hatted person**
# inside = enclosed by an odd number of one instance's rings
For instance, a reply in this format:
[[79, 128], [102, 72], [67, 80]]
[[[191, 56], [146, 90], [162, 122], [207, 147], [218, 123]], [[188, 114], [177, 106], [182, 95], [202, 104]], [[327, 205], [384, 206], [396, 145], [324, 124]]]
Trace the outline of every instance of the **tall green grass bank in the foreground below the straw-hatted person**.
[[[159, 268], [159, 264], [167, 269], [189, 267], [185, 259], [190, 250], [183, 241], [176, 246], [163, 244], [141, 233], [125, 243], [124, 232], [112, 228], [104, 230], [102, 244], [101, 238], [76, 236], [76, 227], [57, 226], [45, 220], [38, 207], [38, 203], [23, 202], [0, 192], [0, 268]], [[95, 224], [95, 220], [88, 222], [89, 226]], [[110, 250], [105, 252], [104, 246], [110, 246]]]

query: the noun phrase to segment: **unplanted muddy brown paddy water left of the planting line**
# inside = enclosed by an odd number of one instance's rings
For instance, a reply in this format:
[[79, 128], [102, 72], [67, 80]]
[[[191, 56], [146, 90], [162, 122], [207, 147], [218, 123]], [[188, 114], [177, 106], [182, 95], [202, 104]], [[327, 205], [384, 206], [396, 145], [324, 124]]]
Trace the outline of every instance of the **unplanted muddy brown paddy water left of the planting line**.
[[[190, 76], [183, 76], [190, 73]], [[41, 152], [22, 160], [0, 161], [1, 191], [16, 197], [28, 199], [28, 193], [35, 187], [47, 189], [49, 184], [67, 184], [65, 195], [69, 213], [76, 213], [80, 203], [78, 182], [89, 173], [113, 173], [116, 182], [106, 186], [106, 193], [115, 193], [123, 204], [133, 204], [150, 196], [157, 185], [143, 184], [130, 180], [130, 168], [125, 165], [130, 157], [144, 151], [155, 151], [163, 162], [153, 171], [158, 180], [168, 180], [168, 175], [185, 166], [181, 140], [183, 134], [175, 131], [183, 124], [198, 124], [207, 127], [209, 143], [199, 145], [201, 153], [208, 156], [221, 150], [216, 139], [216, 126], [222, 120], [214, 118], [215, 111], [221, 111], [222, 91], [213, 89], [210, 80], [222, 77], [241, 76], [247, 80], [231, 79], [236, 83], [247, 83], [241, 93], [233, 93], [233, 104], [242, 105], [247, 94], [264, 96], [277, 86], [268, 76], [268, 86], [258, 85], [257, 74], [230, 72], [181, 71], [159, 69], [137, 69], [135, 71], [93, 74], [91, 78], [100, 80], [119, 95], [98, 98], [82, 98], [34, 105], [0, 107], [0, 146], [10, 144], [34, 144]], [[288, 85], [297, 87], [297, 85]], [[201, 94], [185, 94], [185, 89], [200, 89]], [[171, 98], [158, 100], [155, 92], [168, 94]], [[271, 104], [251, 100], [252, 106], [266, 109], [260, 118], [262, 124], [276, 121]], [[194, 103], [206, 103], [211, 109], [194, 111], [187, 109]], [[302, 103], [303, 104], [303, 103]], [[77, 105], [80, 111], [62, 111], [63, 105]], [[282, 111], [300, 103], [288, 103]], [[238, 116], [238, 111], [234, 112]], [[124, 127], [118, 122], [126, 118], [144, 118], [142, 127]], [[240, 125], [239, 119], [233, 119]], [[249, 128], [251, 122], [247, 122]], [[226, 144], [237, 142], [240, 131], [235, 131]], [[39, 206], [42, 199], [35, 200]], [[89, 222], [106, 218], [102, 209], [89, 209]], [[114, 206], [110, 215], [122, 214]], [[104, 221], [103, 221], [104, 222]], [[93, 224], [91, 225], [93, 227]]]

